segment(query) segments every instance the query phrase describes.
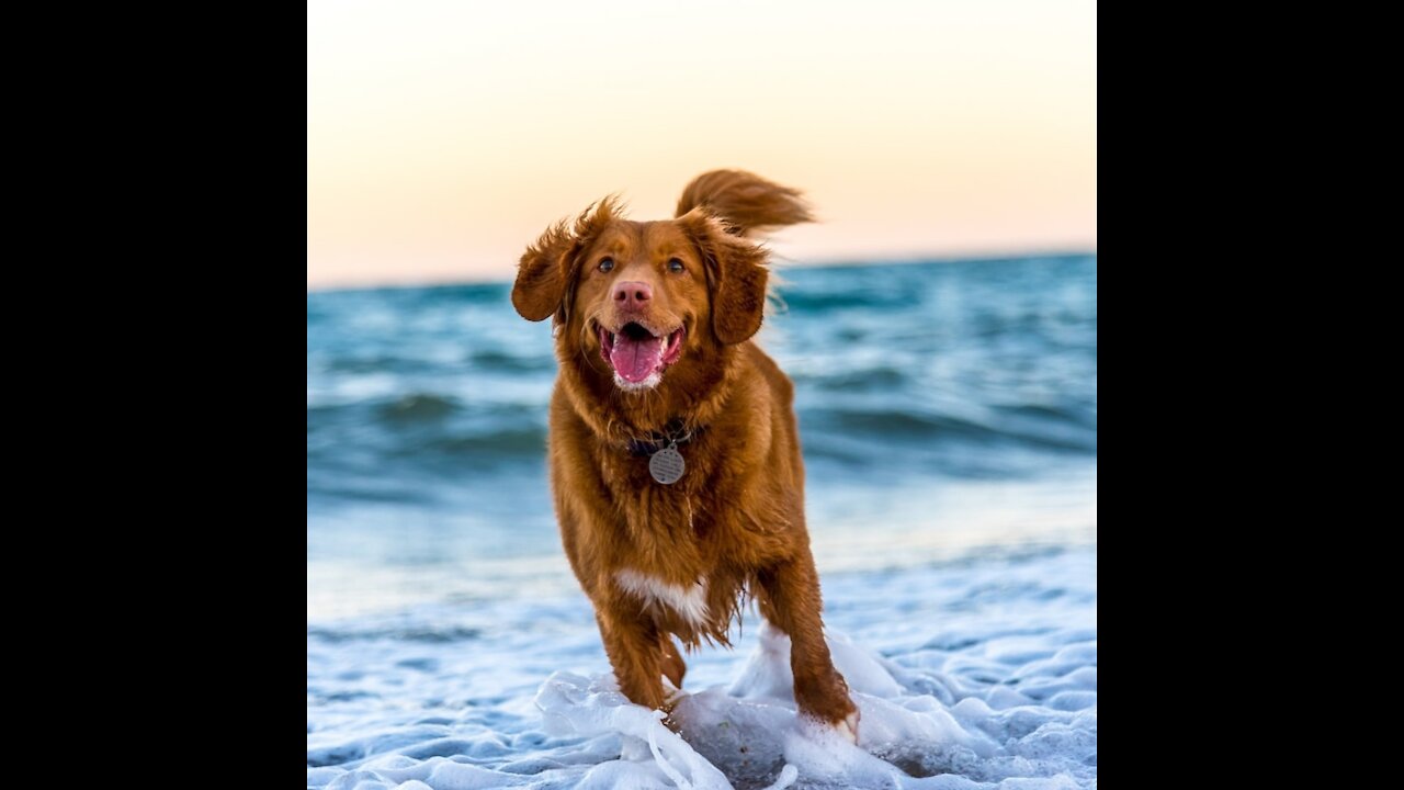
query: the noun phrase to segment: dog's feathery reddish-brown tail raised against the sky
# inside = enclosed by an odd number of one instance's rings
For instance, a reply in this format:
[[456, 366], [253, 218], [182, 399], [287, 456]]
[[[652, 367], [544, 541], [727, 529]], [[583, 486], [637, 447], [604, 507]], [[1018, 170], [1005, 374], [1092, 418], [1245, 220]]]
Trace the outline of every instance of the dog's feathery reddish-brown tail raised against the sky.
[[729, 225], [737, 236], [813, 222], [799, 190], [772, 184], [746, 170], [710, 170], [682, 190], [677, 216], [702, 208]]

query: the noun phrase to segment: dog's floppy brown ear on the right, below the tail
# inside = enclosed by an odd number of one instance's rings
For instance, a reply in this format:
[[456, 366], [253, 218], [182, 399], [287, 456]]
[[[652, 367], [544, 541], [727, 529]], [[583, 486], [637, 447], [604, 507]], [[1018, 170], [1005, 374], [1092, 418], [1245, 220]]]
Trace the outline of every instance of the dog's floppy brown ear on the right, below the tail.
[[701, 208], [677, 222], [702, 252], [712, 292], [712, 333], [726, 346], [744, 343], [761, 329], [765, 313], [765, 249], [733, 235]]

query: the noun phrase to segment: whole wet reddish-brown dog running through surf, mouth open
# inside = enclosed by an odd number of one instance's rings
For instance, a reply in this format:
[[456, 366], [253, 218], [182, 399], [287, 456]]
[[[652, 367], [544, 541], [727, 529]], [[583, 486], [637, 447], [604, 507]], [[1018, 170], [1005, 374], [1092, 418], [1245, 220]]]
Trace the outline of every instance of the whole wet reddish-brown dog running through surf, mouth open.
[[668, 634], [729, 644], [753, 595], [792, 640], [800, 711], [854, 739], [820, 621], [793, 387], [750, 340], [767, 252], [747, 236], [809, 219], [796, 190], [737, 170], [695, 179], [675, 219], [632, 222], [607, 198], [526, 249], [512, 305], [555, 318], [556, 517], [621, 690], [664, 707], [663, 676], [681, 687], [687, 669]]

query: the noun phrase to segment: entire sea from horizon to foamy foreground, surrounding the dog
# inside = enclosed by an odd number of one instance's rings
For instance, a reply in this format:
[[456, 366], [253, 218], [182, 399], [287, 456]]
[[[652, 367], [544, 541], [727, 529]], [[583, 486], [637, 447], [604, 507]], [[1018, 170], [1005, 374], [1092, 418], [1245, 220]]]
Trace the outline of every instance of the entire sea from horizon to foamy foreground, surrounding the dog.
[[795, 381], [841, 671], [870, 680], [861, 749], [767, 718], [754, 614], [689, 659], [688, 703], [769, 756], [623, 724], [550, 509], [549, 322], [508, 283], [313, 291], [309, 787], [1095, 786], [1095, 256], [776, 274], [758, 340]]

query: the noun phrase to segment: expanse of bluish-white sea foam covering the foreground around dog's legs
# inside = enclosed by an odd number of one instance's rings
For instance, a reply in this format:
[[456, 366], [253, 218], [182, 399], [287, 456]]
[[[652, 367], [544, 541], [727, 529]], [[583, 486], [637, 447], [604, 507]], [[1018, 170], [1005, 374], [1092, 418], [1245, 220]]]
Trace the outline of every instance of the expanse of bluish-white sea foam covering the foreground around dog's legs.
[[856, 635], [828, 634], [856, 745], [797, 714], [768, 626], [689, 656], [680, 737], [619, 693], [577, 596], [309, 634], [307, 786], [1095, 787], [1095, 555], [831, 576], [826, 602]]

